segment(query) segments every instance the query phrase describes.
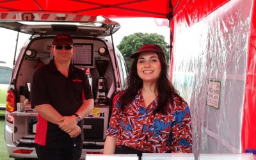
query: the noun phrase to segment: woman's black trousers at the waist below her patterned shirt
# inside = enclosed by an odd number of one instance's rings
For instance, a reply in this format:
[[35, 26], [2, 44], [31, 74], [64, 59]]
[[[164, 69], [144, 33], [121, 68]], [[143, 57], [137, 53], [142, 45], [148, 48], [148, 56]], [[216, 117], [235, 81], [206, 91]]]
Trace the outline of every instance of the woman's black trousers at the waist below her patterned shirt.
[[134, 148], [127, 147], [125, 145], [122, 145], [121, 147], [116, 147], [116, 150], [115, 150], [115, 154], [137, 154], [140, 160], [142, 157], [142, 153], [150, 153], [150, 152], [136, 150]]

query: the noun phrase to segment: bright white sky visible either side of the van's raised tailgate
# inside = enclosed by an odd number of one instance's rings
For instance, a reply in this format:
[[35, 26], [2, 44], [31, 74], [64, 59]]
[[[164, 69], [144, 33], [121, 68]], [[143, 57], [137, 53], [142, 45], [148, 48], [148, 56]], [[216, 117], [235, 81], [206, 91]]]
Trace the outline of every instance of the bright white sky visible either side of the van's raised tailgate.
[[[126, 18], [126, 19], [112, 19], [118, 22], [121, 28], [113, 35], [114, 45], [120, 44], [124, 36], [132, 35], [133, 33], [157, 33], [163, 35], [164, 40], [170, 44], [170, 28], [167, 26], [157, 26], [153, 18]], [[8, 65], [12, 65], [15, 54], [15, 44], [17, 33], [8, 29], [0, 28], [0, 61], [6, 61]], [[28, 35], [19, 35], [19, 44], [17, 45], [17, 54], [24, 44]]]

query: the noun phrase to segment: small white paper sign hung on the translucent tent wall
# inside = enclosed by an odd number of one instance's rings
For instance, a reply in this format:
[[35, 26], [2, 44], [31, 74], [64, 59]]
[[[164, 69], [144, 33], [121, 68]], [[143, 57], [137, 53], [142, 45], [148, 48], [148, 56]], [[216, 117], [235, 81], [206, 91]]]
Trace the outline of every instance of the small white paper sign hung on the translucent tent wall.
[[207, 105], [213, 108], [219, 108], [220, 102], [220, 81], [210, 80], [207, 92]]

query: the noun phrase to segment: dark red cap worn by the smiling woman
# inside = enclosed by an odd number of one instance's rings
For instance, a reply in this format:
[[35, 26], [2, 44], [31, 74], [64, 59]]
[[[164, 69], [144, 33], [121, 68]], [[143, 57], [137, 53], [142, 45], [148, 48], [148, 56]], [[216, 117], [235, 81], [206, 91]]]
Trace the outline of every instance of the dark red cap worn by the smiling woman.
[[161, 54], [164, 59], [165, 59], [165, 56], [164, 56], [164, 51], [163, 49], [157, 45], [157, 44], [144, 44], [140, 47], [140, 49], [138, 49], [137, 52], [134, 52], [134, 54], [132, 54], [130, 56], [130, 58], [136, 58], [137, 56], [139, 56], [139, 54], [141, 52], [156, 52], [157, 54]]

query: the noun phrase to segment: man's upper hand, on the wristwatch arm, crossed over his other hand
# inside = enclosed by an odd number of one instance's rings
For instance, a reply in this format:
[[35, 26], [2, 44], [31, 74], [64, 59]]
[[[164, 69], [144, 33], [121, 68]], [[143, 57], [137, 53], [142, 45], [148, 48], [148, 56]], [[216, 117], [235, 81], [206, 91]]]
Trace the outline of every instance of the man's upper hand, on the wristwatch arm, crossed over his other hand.
[[67, 132], [68, 134], [76, 127], [77, 120], [76, 116], [63, 116], [60, 118], [59, 122], [61, 124], [59, 127], [61, 128], [62, 131]]

